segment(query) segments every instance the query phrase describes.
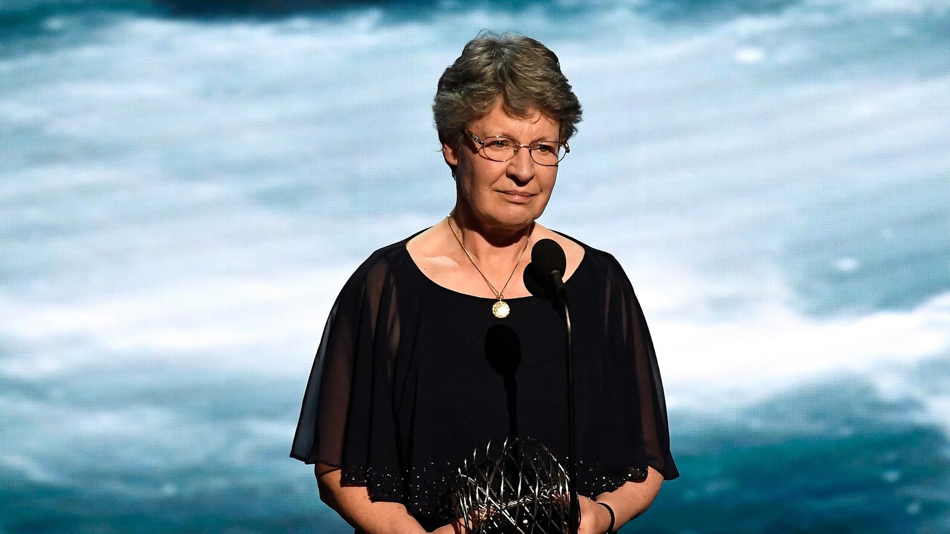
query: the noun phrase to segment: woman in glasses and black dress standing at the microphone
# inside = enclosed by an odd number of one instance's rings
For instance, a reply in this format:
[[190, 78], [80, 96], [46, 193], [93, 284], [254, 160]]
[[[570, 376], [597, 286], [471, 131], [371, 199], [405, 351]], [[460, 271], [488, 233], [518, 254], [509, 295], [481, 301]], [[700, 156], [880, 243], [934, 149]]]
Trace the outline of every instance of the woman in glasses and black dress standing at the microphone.
[[377, 250], [333, 305], [291, 456], [357, 531], [453, 532], [449, 478], [508, 435], [566, 451], [561, 318], [530, 296], [534, 243], [567, 258], [580, 532], [618, 529], [678, 476], [653, 344], [617, 260], [536, 222], [580, 121], [557, 56], [487, 33], [433, 105], [456, 181], [446, 219]]

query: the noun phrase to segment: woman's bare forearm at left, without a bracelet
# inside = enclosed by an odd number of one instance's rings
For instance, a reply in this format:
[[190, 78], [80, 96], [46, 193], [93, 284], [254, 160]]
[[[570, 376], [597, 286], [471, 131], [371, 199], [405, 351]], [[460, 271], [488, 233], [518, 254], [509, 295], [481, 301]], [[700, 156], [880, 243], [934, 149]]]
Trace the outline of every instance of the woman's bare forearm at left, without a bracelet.
[[424, 529], [399, 503], [372, 502], [366, 486], [341, 486], [340, 469], [314, 465], [320, 500], [333, 508], [357, 532], [366, 534], [425, 534]]

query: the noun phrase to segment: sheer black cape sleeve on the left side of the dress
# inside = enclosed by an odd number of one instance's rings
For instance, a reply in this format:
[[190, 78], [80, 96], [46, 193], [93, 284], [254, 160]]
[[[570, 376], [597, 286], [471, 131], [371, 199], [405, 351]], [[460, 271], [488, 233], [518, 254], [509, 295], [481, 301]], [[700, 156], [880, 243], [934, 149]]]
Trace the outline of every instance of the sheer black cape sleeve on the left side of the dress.
[[400, 324], [386, 249], [353, 273], [314, 356], [290, 456], [341, 468], [341, 483], [402, 502], [393, 362]]

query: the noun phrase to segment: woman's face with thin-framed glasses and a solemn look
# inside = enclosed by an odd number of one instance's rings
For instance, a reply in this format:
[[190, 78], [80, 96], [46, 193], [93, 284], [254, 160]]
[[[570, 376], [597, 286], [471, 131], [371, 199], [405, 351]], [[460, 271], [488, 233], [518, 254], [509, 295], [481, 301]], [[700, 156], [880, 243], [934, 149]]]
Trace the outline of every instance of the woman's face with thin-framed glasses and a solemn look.
[[[483, 140], [503, 135], [523, 144], [559, 141], [560, 133], [558, 123], [541, 113], [516, 119], [505, 114], [501, 105], [467, 129]], [[557, 166], [534, 162], [524, 147], [507, 162], [485, 158], [481, 145], [468, 139], [459, 150], [447, 144], [443, 148], [446, 161], [456, 165], [459, 203], [466, 204], [486, 229], [520, 229], [541, 217], [558, 177]]]

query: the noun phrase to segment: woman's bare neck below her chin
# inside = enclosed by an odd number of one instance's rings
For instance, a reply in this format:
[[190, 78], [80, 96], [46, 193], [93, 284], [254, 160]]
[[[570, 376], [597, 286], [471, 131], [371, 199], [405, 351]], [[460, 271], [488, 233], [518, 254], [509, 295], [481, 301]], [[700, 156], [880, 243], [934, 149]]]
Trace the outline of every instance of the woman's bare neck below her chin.
[[490, 263], [510, 269], [521, 257], [534, 225], [529, 221], [519, 228], [493, 227], [473, 217], [459, 204], [452, 210], [450, 219], [468, 254], [489, 268]]

